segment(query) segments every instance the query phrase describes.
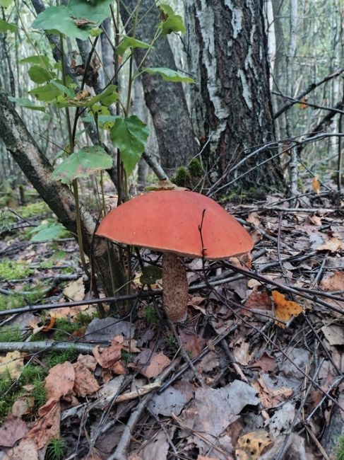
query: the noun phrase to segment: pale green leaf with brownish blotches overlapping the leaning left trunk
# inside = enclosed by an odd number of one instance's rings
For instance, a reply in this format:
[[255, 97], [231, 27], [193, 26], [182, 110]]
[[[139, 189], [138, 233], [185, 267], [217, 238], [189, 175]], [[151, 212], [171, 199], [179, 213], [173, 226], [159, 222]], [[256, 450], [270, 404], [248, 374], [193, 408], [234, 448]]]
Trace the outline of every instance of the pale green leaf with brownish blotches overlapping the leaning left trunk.
[[61, 180], [61, 183], [71, 183], [76, 178], [86, 178], [102, 169], [112, 167], [112, 158], [105, 150], [97, 145], [84, 147], [78, 152], [69, 155], [52, 173], [52, 180]]

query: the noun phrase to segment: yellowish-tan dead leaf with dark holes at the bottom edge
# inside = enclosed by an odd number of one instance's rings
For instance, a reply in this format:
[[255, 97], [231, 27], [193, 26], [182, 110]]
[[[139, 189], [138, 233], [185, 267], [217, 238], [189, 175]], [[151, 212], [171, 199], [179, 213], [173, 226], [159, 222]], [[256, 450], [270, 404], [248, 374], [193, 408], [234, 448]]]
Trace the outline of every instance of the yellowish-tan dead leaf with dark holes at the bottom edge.
[[237, 460], [257, 460], [273, 442], [266, 430], [256, 430], [239, 437], [235, 455]]

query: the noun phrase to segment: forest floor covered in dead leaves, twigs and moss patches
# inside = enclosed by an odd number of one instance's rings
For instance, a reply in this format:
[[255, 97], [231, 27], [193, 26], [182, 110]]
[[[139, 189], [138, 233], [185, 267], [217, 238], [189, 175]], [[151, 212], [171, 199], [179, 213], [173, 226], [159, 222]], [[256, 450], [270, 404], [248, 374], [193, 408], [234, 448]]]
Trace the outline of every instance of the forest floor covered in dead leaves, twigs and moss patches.
[[135, 260], [129, 313], [102, 318], [74, 239], [31, 239], [45, 204], [2, 212], [0, 459], [344, 459], [343, 201], [225, 207], [251, 258], [186, 260], [177, 325]]

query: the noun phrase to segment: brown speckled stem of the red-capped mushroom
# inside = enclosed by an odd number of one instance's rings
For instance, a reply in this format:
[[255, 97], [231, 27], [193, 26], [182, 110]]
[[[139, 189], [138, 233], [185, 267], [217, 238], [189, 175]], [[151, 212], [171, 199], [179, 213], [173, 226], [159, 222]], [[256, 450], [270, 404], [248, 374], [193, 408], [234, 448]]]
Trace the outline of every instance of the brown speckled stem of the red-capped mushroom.
[[162, 255], [162, 287], [167, 318], [170, 321], [185, 321], [189, 285], [185, 267], [173, 253]]

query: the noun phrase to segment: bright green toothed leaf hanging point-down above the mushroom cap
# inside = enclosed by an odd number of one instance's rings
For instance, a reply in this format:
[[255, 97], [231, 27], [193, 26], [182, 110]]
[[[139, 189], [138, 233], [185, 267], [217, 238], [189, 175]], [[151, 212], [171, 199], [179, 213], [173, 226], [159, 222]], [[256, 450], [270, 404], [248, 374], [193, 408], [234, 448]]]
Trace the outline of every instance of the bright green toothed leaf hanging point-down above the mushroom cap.
[[136, 115], [129, 118], [117, 117], [111, 128], [112, 143], [121, 152], [121, 160], [128, 176], [141, 159], [148, 134], [148, 127]]

